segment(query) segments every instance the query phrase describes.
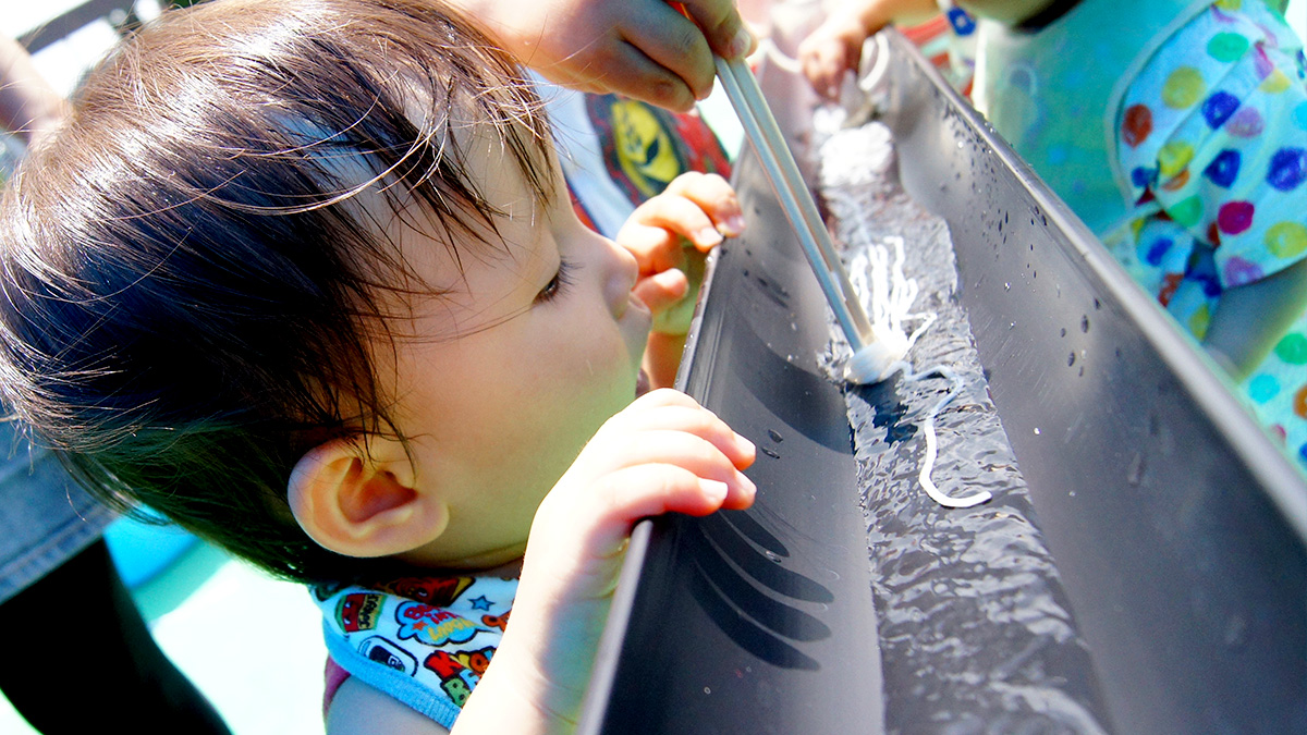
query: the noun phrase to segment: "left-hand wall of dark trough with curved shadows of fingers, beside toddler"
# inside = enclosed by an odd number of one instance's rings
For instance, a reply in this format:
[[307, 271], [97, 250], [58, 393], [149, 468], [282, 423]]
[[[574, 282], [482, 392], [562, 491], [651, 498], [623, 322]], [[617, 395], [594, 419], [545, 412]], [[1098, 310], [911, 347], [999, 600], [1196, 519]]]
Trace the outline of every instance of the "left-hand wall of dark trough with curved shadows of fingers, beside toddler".
[[758, 500], [637, 528], [583, 732], [881, 731], [850, 426], [817, 364], [827, 306], [755, 161], [737, 190], [749, 233], [710, 260], [680, 385], [758, 445]]

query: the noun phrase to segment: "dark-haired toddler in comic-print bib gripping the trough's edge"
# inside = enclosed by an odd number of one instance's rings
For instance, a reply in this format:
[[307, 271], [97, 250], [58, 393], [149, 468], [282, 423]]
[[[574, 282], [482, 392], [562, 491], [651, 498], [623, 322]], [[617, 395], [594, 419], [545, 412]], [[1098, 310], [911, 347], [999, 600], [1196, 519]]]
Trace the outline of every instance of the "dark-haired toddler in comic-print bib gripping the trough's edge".
[[614, 243], [549, 136], [433, 0], [220, 0], [5, 195], [0, 398], [106, 500], [315, 585], [329, 731], [571, 728], [631, 524], [753, 501], [748, 439], [635, 398], [733, 192], [682, 175]]

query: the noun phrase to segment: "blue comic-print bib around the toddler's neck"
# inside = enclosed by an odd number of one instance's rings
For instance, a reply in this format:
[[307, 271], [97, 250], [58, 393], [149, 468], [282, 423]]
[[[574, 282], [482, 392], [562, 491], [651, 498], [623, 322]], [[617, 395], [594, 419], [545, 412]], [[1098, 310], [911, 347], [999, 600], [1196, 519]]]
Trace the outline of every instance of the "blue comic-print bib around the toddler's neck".
[[518, 579], [406, 577], [311, 589], [337, 666], [444, 727], [494, 658]]

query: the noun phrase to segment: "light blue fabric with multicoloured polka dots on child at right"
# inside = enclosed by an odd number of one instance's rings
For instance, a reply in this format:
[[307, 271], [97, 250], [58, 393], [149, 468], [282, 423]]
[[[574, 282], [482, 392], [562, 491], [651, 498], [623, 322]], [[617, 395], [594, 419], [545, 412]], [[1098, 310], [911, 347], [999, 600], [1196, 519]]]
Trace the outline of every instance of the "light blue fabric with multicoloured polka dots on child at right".
[[[1307, 258], [1302, 46], [1263, 0], [1218, 0], [1125, 94], [1117, 152], [1136, 207], [1104, 239], [1199, 339], [1226, 289]], [[1272, 339], [1243, 394], [1307, 468], [1307, 310]]]

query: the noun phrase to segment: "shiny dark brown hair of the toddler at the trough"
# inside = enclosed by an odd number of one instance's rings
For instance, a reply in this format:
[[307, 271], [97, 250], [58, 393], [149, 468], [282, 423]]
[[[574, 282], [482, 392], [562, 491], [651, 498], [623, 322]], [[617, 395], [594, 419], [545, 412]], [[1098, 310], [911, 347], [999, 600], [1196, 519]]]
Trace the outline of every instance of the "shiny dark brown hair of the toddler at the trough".
[[465, 163], [485, 132], [552, 196], [521, 71], [433, 0], [163, 13], [5, 194], [0, 395], [120, 509], [281, 577], [367, 574], [299, 530], [286, 481], [323, 441], [396, 436], [378, 345], [403, 339], [396, 303], [439, 293], [375, 203], [420, 204], [444, 247], [506, 247], [476, 234], [501, 214]]

